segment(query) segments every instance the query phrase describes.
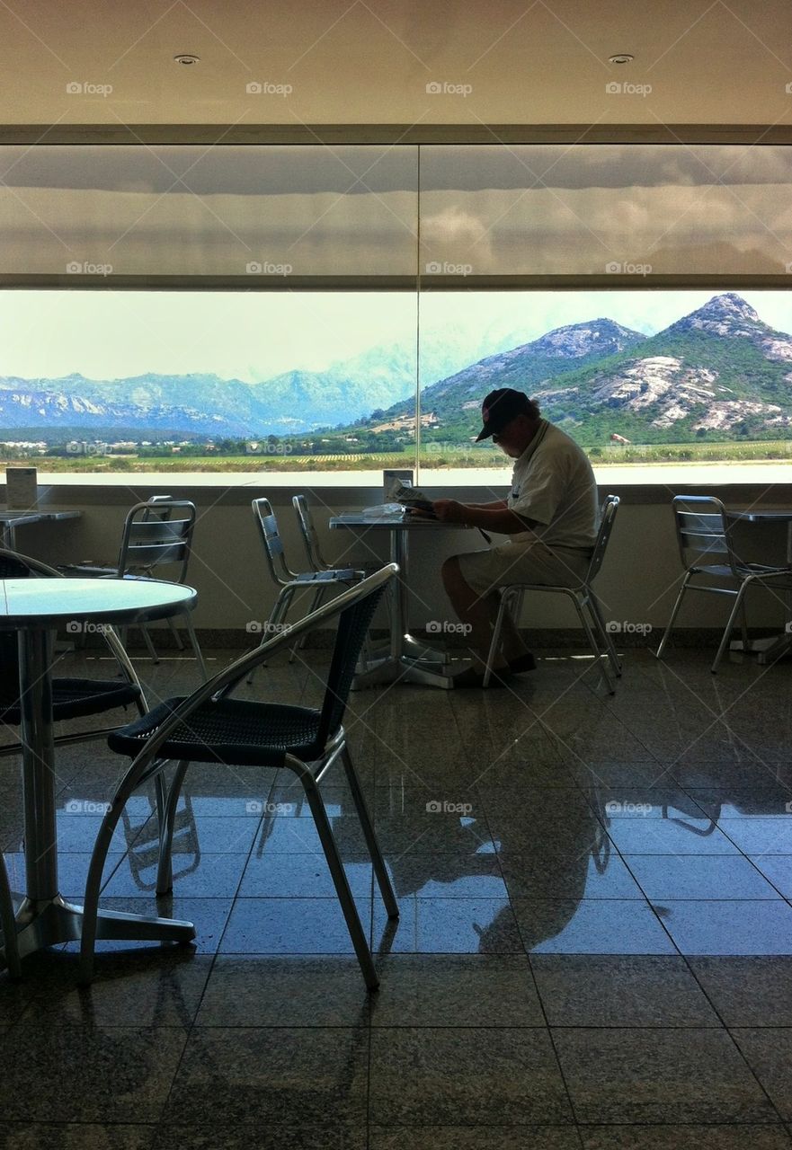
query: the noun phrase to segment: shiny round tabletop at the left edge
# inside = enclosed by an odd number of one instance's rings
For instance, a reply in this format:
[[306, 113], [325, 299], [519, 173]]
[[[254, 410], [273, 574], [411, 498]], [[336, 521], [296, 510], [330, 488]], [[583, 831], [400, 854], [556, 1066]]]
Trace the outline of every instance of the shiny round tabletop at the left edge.
[[195, 606], [198, 592], [162, 580], [6, 578], [0, 580], [0, 629], [51, 629], [83, 620], [145, 623]]

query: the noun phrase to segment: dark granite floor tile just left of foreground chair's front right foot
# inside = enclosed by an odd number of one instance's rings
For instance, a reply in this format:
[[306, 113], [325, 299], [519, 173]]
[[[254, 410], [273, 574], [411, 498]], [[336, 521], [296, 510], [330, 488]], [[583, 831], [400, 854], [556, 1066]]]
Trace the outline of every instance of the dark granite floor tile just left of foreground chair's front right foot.
[[219, 954], [196, 1026], [363, 1026], [368, 1011], [351, 954]]

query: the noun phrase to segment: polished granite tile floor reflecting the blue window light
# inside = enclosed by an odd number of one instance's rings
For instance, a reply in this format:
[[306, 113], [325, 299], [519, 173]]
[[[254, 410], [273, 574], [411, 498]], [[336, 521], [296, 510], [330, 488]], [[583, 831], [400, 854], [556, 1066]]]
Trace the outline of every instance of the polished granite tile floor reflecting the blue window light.
[[[82, 992], [73, 946], [26, 960], [18, 984], [0, 975], [0, 1145], [790, 1147], [792, 664], [714, 677], [710, 658], [627, 652], [615, 698], [570, 654], [513, 690], [352, 697], [401, 905], [394, 928], [328, 779], [382, 980], [371, 998], [289, 779], [192, 768], [160, 911], [196, 922], [195, 948], [100, 944]], [[138, 666], [152, 699], [197, 685], [190, 661]], [[312, 700], [315, 669], [269, 667], [254, 691]], [[119, 768], [101, 744], [59, 759], [75, 899]], [[136, 797], [107, 906], [157, 906], [151, 815]], [[5, 760], [17, 889], [21, 835]]]

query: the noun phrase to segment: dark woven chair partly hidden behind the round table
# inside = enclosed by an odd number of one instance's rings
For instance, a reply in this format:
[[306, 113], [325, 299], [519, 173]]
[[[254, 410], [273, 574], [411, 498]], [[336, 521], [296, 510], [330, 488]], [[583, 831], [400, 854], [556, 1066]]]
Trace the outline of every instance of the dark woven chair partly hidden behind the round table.
[[[0, 578], [62, 578], [54, 567], [21, 555], [16, 551], [0, 550]], [[129, 661], [119, 637], [112, 628], [105, 628], [104, 638], [115, 656], [122, 673], [122, 680], [93, 678], [54, 678], [52, 683], [52, 711], [58, 721], [82, 719], [87, 715], [104, 714], [116, 707], [134, 704], [138, 713], [146, 713], [146, 700], [135, 669]], [[22, 722], [22, 702], [20, 699], [20, 672], [17, 636], [15, 631], [0, 631], [0, 724], [18, 727]], [[56, 735], [55, 746], [86, 742], [106, 737], [115, 728], [100, 728]], [[16, 739], [0, 746], [0, 758], [18, 754], [22, 743]], [[163, 795], [163, 792], [162, 792]], [[158, 792], [158, 798], [161, 796]], [[0, 926], [3, 937], [3, 960], [12, 977], [20, 977], [21, 965], [16, 945], [16, 920], [12, 900], [8, 874], [6, 872], [2, 851], [0, 851]]]

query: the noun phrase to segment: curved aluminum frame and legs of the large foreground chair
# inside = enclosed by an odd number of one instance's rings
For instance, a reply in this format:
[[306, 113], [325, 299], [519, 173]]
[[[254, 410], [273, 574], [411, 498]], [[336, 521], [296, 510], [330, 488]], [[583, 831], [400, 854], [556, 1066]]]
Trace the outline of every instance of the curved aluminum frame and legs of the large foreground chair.
[[[93, 954], [94, 954], [94, 943], [96, 943], [96, 930], [97, 930], [97, 914], [99, 908], [99, 892], [101, 887], [101, 876], [105, 866], [105, 860], [107, 852], [111, 846], [113, 838], [113, 833], [121, 818], [121, 812], [129, 800], [130, 796], [144, 783], [146, 783], [152, 777], [161, 777], [161, 774], [167, 766], [167, 758], [161, 757], [162, 749], [166, 747], [168, 739], [177, 731], [177, 728], [184, 723], [189, 724], [190, 716], [201, 706], [210, 704], [213, 700], [221, 700], [228, 696], [234, 688], [236, 688], [244, 678], [248, 677], [250, 672], [259, 666], [265, 659], [272, 656], [274, 652], [291, 645], [296, 638], [299, 638], [303, 634], [330, 622], [332, 620], [340, 619], [342, 612], [350, 608], [359, 607], [363, 605], [365, 599], [373, 599], [371, 604], [371, 611], [375, 610], [376, 599], [379, 599], [386, 584], [393, 580], [393, 577], [398, 572], [395, 564], [386, 565], [376, 574], [371, 575], [368, 578], [364, 580], [357, 586], [350, 588], [343, 591], [340, 596], [333, 599], [330, 603], [325, 604], [318, 611], [310, 615], [306, 615], [298, 623], [292, 624], [284, 631], [274, 635], [272, 638], [267, 639], [261, 646], [257, 647], [249, 654], [243, 656], [237, 659], [234, 664], [227, 667], [224, 670], [215, 675], [208, 683], [204, 683], [197, 691], [185, 699], [181, 699], [175, 708], [169, 713], [169, 716], [163, 719], [152, 729], [151, 734], [146, 736], [145, 744], [139, 751], [139, 753], [132, 759], [129, 769], [127, 770], [123, 780], [119, 784], [113, 802], [109, 810], [102, 819], [99, 834], [97, 836], [97, 842], [93, 849], [93, 854], [91, 857], [91, 865], [89, 868], [87, 884], [85, 889], [85, 900], [84, 900], [84, 917], [83, 917], [83, 931], [81, 941], [81, 982], [83, 984], [91, 981], [93, 975]], [[340, 632], [338, 632], [340, 634]], [[360, 638], [360, 645], [363, 639]], [[333, 674], [334, 668], [336, 668], [336, 659], [340, 660], [338, 666], [342, 669], [342, 680], [346, 676], [346, 685], [344, 693], [337, 693], [334, 697], [330, 695], [329, 683], [326, 684], [326, 697], [325, 707], [328, 705], [328, 700], [332, 705], [337, 705], [341, 707], [337, 727], [328, 729], [327, 742], [320, 758], [307, 762], [297, 758], [295, 754], [285, 753], [283, 767], [294, 772], [294, 774], [299, 780], [305, 797], [307, 799], [309, 806], [311, 808], [311, 814], [313, 815], [314, 825], [319, 835], [319, 839], [327, 860], [330, 875], [335, 885], [336, 895], [341, 904], [344, 919], [346, 921], [346, 927], [355, 948], [355, 952], [360, 965], [366, 986], [370, 990], [375, 990], [379, 986], [379, 979], [376, 975], [376, 969], [372, 959], [371, 951], [368, 949], [368, 942], [366, 940], [366, 934], [360, 922], [360, 918], [352, 897], [352, 892], [349, 885], [349, 880], [341, 861], [341, 856], [335, 842], [335, 836], [333, 834], [333, 828], [325, 808], [325, 804], [319, 790], [319, 783], [327, 773], [327, 770], [333, 766], [334, 762], [341, 760], [346, 781], [352, 793], [352, 799], [357, 811], [357, 815], [366, 839], [366, 845], [372, 859], [374, 874], [378, 880], [382, 900], [384, 903], [388, 918], [398, 918], [398, 905], [396, 903], [396, 896], [388, 875], [388, 871], [382, 858], [382, 852], [379, 848], [376, 836], [374, 833], [374, 826], [368, 813], [366, 800], [358, 780], [355, 766], [352, 764], [349, 749], [346, 746], [346, 737], [343, 728], [343, 712], [346, 706], [346, 696], [349, 693], [349, 685], [351, 684], [351, 668], [348, 666], [349, 662], [357, 660], [359, 654], [359, 649], [356, 650], [356, 644], [352, 644], [349, 650], [338, 650], [340, 644], [336, 639], [336, 649], [334, 652], [334, 659], [330, 667], [330, 673], [328, 677]], [[358, 645], [359, 646], [359, 645]], [[176, 700], [174, 700], [176, 702]], [[325, 711], [322, 710], [322, 714]], [[211, 744], [210, 744], [211, 746]], [[214, 753], [214, 752], [213, 752]], [[230, 757], [230, 753], [229, 753]], [[215, 761], [223, 762], [219, 754]], [[233, 764], [228, 764], [231, 765]], [[161, 836], [160, 836], [160, 859], [159, 859], [159, 883], [158, 892], [165, 892], [168, 887], [168, 880], [170, 877], [169, 857], [170, 857], [170, 836], [173, 834], [173, 819], [176, 811], [176, 805], [178, 803], [178, 795], [181, 785], [189, 766], [189, 760], [178, 760], [176, 770], [174, 773], [170, 787], [167, 790], [166, 796], [166, 818], [162, 821]]]

